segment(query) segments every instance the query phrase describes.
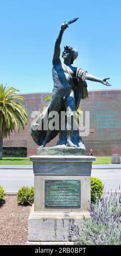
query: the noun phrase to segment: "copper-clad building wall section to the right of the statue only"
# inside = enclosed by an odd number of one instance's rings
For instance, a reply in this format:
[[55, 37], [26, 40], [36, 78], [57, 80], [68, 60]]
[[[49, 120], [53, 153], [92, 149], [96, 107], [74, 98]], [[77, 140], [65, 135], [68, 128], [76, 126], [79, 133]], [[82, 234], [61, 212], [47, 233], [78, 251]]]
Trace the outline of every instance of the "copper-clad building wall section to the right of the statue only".
[[90, 109], [90, 135], [85, 138], [87, 151], [94, 149], [96, 156], [121, 153], [121, 90], [89, 92], [82, 109]]

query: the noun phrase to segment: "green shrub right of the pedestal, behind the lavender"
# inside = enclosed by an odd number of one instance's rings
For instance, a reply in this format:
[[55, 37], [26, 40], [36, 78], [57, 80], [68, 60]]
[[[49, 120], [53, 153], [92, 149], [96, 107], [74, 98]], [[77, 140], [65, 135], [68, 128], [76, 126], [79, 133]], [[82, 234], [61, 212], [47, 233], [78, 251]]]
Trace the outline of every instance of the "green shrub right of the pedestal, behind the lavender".
[[95, 177], [91, 177], [91, 202], [100, 199], [103, 194], [103, 182]]

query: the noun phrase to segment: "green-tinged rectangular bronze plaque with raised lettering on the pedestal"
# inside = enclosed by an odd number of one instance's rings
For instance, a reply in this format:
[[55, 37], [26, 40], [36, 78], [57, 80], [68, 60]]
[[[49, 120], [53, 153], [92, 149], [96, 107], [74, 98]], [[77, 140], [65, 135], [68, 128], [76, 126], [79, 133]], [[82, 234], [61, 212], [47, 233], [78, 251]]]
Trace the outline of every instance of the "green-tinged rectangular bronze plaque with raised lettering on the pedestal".
[[80, 207], [80, 180], [45, 180], [45, 207]]

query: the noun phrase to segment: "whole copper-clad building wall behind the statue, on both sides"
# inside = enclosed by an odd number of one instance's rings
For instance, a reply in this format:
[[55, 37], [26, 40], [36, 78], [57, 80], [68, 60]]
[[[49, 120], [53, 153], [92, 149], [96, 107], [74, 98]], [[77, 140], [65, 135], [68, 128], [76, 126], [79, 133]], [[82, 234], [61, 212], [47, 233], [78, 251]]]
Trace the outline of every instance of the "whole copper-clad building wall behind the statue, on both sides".
[[[29, 113], [28, 124], [24, 131], [16, 131], [10, 139], [4, 139], [4, 147], [27, 147], [28, 156], [36, 154], [37, 145], [30, 136], [31, 113], [42, 110], [45, 104], [43, 97], [48, 94], [22, 94], [26, 100], [24, 107]], [[88, 99], [80, 103], [84, 113], [90, 111], [90, 132], [88, 136], [82, 136], [86, 154], [92, 148], [95, 156], [121, 155], [121, 90], [93, 90], [88, 95]], [[55, 145], [56, 141], [58, 138], [48, 145]]]

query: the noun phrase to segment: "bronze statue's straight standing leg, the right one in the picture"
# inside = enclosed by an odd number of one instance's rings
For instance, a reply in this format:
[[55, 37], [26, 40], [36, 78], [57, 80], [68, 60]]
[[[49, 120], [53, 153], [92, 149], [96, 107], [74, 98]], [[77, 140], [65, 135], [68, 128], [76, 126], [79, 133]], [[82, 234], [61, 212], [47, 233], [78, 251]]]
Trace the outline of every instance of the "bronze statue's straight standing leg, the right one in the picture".
[[71, 93], [67, 96], [66, 102], [66, 116], [67, 116], [67, 147], [77, 147], [77, 145], [72, 143], [73, 127], [74, 127], [74, 111], [75, 111], [75, 99], [74, 92], [71, 90]]

